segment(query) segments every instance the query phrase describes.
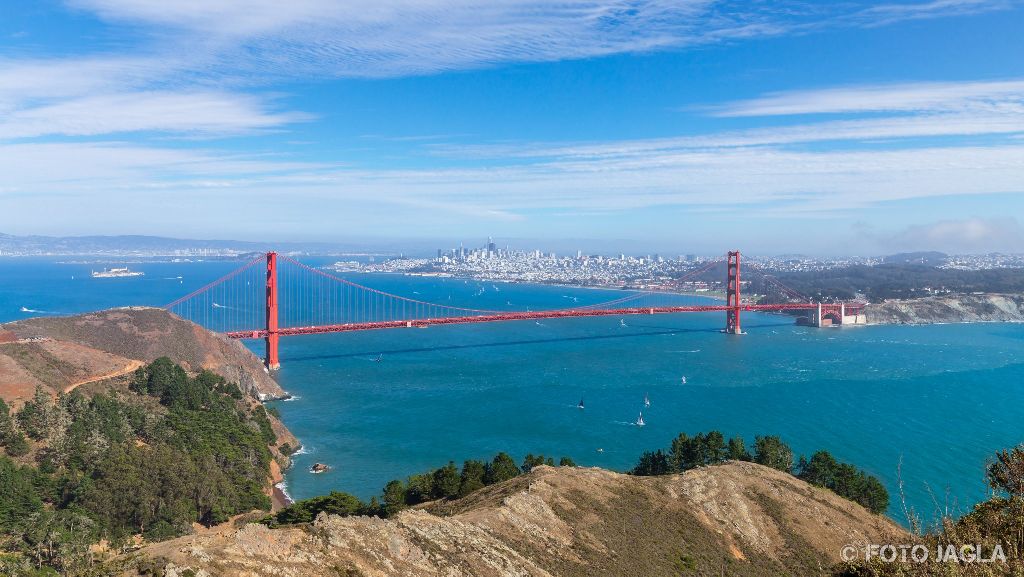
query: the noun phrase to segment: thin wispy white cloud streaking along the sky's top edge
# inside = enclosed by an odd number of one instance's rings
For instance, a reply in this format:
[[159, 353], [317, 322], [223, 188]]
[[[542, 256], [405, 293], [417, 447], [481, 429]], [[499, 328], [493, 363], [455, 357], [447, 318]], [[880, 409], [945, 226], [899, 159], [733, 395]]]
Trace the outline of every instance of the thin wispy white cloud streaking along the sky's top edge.
[[959, 15], [1008, 3], [713, 0], [71, 0], [109, 20], [190, 37], [221, 65], [387, 77], [679, 48]]

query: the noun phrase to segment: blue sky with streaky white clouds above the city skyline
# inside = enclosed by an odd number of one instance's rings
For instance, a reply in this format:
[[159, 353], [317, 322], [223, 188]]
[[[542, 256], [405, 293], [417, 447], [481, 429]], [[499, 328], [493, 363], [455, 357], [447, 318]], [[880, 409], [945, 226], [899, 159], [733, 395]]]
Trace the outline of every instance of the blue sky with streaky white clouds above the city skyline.
[[0, 232], [1024, 251], [1014, 0], [0, 0]]

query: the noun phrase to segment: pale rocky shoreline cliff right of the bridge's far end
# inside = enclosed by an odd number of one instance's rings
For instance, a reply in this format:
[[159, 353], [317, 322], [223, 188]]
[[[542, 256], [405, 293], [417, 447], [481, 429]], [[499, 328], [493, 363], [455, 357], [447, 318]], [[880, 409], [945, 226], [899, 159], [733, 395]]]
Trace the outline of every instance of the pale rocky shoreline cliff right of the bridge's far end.
[[1024, 295], [959, 294], [887, 300], [864, 307], [872, 325], [1024, 322]]

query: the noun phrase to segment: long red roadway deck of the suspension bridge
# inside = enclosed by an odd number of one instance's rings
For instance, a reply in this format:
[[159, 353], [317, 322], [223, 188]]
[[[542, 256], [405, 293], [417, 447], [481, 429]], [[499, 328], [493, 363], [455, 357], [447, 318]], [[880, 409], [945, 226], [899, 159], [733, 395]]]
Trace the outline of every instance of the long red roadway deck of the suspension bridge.
[[[782, 312], [817, 310], [814, 302], [799, 302], [784, 304], [741, 304], [740, 311], [749, 312]], [[633, 306], [629, 308], [562, 308], [556, 311], [528, 311], [524, 313], [495, 313], [490, 315], [474, 315], [467, 317], [439, 317], [436, 319], [416, 319], [407, 321], [378, 321], [372, 323], [345, 323], [341, 325], [323, 325], [308, 327], [282, 327], [279, 336], [300, 334], [325, 334], [349, 331], [367, 331], [375, 329], [426, 328], [432, 325], [465, 325], [469, 323], [495, 323], [501, 321], [534, 321], [542, 319], [572, 319], [580, 317], [625, 317], [628, 315], [664, 315], [671, 313], [722, 313], [733, 310], [726, 304], [706, 304], [691, 306]], [[232, 331], [224, 333], [230, 338], [266, 338], [265, 329], [254, 331]]]

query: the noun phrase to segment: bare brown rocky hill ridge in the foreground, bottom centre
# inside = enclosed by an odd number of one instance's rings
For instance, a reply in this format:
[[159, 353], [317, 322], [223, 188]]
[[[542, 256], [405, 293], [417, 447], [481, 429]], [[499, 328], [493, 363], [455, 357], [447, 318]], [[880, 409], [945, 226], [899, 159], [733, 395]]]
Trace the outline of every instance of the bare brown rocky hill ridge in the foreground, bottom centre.
[[152, 564], [210, 576], [816, 575], [847, 543], [905, 532], [761, 465], [655, 478], [541, 466], [463, 499], [388, 520], [322, 513], [151, 545]]

